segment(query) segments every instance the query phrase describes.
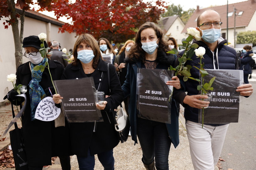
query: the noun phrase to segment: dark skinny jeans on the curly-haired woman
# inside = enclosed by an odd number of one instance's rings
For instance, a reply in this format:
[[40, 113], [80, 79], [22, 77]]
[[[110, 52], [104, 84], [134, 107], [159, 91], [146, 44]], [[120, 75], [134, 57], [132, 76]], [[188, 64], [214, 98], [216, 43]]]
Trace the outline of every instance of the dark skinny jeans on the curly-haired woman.
[[137, 135], [145, 164], [154, 161], [157, 170], [168, 170], [168, 156], [171, 139], [165, 123], [150, 121], [137, 117]]

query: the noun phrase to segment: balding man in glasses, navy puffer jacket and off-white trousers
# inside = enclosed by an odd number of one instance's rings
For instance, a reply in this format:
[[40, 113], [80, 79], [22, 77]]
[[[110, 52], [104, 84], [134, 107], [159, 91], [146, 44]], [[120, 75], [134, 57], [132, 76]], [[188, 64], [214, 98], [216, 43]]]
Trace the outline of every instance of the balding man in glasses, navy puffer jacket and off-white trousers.
[[[204, 69], [237, 70], [236, 51], [224, 45], [227, 40], [221, 37], [221, 24], [220, 14], [213, 9], [207, 9], [199, 14], [196, 29], [200, 31], [202, 39], [201, 41], [194, 39], [193, 43], [205, 48], [202, 61]], [[178, 57], [181, 57], [183, 53], [184, 51]], [[191, 59], [187, 60], [185, 65], [200, 67], [199, 57], [194, 54]], [[178, 63], [178, 59], [176, 59], [175, 64], [178, 65]], [[199, 70], [195, 67], [190, 69], [190, 73], [191, 77], [199, 79]], [[213, 170], [221, 154], [228, 124], [204, 124], [204, 128], [202, 128], [202, 124], [198, 123], [198, 109], [208, 106], [210, 102], [199, 100], [207, 98], [207, 96], [198, 95], [199, 83], [197, 81], [189, 79], [185, 84], [188, 94], [182, 92], [180, 96], [183, 96], [181, 104], [185, 107], [184, 117], [193, 166], [195, 170]], [[240, 92], [240, 95], [248, 97], [252, 95], [253, 88], [251, 84], [244, 84], [237, 87], [236, 91]]]

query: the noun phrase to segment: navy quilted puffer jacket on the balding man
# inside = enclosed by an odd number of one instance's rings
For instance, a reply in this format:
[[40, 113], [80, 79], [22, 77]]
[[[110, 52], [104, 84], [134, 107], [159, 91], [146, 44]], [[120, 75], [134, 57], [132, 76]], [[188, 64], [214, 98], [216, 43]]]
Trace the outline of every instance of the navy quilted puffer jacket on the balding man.
[[[205, 48], [205, 54], [204, 59], [202, 59], [202, 62], [204, 62], [204, 69], [228, 69], [228, 70], [238, 70], [237, 65], [237, 54], [234, 49], [231, 47], [228, 47], [224, 45], [227, 43], [226, 39], [223, 39], [220, 37], [218, 39], [218, 45], [217, 48], [212, 52], [210, 48], [203, 42], [203, 41], [196, 41], [193, 40], [193, 43], [196, 43], [199, 45], [199, 47]], [[182, 51], [178, 57], [182, 56], [184, 51]], [[200, 59], [197, 58], [197, 56], [194, 54], [192, 57], [193, 60], [188, 60], [185, 65], [191, 65], [196, 66], [200, 68], [199, 61]], [[175, 65], [178, 64], [178, 61], [176, 60]], [[192, 67], [190, 70], [191, 77], [199, 79], [199, 70], [195, 67]], [[186, 90], [188, 92], [187, 95], [198, 95], [199, 91], [197, 90], [197, 86], [199, 83], [195, 80], [188, 79], [188, 81], [185, 82], [186, 84]], [[185, 97], [183, 95], [183, 97]], [[186, 104], [181, 103], [185, 107], [184, 111], [184, 117], [186, 120], [198, 122], [198, 109], [190, 107]]]

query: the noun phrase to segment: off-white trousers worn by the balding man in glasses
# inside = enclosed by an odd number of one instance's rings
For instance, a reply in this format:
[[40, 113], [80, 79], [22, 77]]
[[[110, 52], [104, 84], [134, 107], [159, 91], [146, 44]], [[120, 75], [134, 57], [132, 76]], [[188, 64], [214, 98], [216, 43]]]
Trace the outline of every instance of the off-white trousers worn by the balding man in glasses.
[[214, 170], [221, 155], [228, 124], [211, 126], [187, 121], [190, 155], [195, 170]]

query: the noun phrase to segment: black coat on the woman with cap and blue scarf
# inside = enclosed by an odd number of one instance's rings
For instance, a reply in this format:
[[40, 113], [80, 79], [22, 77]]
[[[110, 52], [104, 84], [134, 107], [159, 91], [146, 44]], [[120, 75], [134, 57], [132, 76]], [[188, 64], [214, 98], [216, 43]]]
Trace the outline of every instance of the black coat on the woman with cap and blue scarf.
[[[30, 118], [29, 82], [31, 80], [30, 62], [20, 65], [17, 69], [16, 84], [27, 86], [27, 106], [22, 116], [22, 126], [26, 155], [30, 166], [51, 165], [51, 157], [70, 155], [68, 126], [55, 127], [54, 121], [40, 121]], [[52, 80], [60, 80], [64, 71], [63, 64], [48, 60]], [[45, 68], [39, 83], [43, 89], [52, 86], [49, 71]]]

